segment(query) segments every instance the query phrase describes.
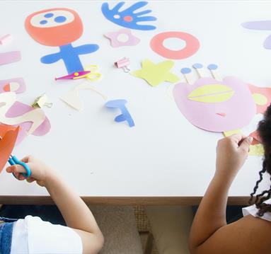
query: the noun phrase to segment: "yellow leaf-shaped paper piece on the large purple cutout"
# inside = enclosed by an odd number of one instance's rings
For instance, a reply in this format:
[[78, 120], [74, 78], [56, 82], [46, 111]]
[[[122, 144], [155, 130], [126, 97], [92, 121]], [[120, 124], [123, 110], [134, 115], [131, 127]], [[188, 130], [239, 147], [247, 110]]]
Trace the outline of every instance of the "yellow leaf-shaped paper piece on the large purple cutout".
[[221, 103], [229, 100], [231, 96], [233, 96], [233, 93], [234, 91], [229, 86], [212, 84], [200, 86], [193, 90], [188, 95], [188, 99], [200, 101], [202, 103]]

